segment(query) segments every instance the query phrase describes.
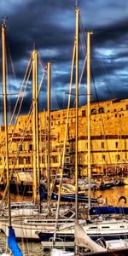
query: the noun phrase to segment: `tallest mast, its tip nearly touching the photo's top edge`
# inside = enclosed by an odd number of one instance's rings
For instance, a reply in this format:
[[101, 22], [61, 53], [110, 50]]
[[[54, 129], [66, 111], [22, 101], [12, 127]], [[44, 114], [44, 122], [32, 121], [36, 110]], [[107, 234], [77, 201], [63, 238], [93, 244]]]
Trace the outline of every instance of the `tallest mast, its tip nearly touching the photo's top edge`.
[[75, 41], [76, 41], [76, 139], [75, 139], [75, 188], [76, 188], [76, 196], [75, 196], [75, 216], [78, 218], [78, 175], [79, 175], [79, 168], [78, 168], [78, 137], [79, 137], [79, 8], [76, 7], [76, 34], [75, 34]]

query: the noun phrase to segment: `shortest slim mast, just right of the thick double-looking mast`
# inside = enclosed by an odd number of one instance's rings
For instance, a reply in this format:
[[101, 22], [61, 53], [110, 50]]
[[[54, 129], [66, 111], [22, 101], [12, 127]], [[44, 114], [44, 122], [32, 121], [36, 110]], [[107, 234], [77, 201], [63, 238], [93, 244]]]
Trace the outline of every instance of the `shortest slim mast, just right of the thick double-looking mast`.
[[51, 84], [51, 64], [48, 62], [48, 79], [47, 79], [47, 111], [48, 111], [48, 154], [47, 154], [47, 181], [48, 181], [48, 211], [50, 212], [50, 84]]

